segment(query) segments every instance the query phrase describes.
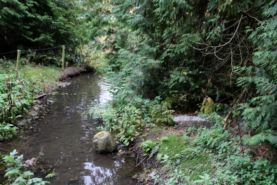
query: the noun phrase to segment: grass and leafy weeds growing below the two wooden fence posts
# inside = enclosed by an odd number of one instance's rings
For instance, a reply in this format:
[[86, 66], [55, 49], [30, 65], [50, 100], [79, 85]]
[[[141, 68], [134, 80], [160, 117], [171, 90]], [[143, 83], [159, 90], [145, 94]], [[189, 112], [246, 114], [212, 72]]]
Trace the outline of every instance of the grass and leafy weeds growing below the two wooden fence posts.
[[0, 59], [0, 137], [10, 139], [18, 130], [18, 118], [27, 115], [34, 98], [50, 90], [59, 77], [72, 71], [56, 66], [25, 63], [15, 73], [15, 61]]

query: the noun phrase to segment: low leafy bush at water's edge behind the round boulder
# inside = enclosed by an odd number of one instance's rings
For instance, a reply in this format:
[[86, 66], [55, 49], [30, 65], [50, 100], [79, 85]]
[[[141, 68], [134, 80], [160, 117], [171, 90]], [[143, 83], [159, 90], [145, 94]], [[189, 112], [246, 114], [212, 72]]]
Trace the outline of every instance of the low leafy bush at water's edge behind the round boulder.
[[93, 103], [89, 107], [88, 114], [103, 119], [105, 126], [100, 126], [98, 129], [117, 132], [118, 140], [125, 146], [139, 136], [146, 124], [151, 126], [154, 123], [168, 125], [173, 123], [171, 115], [173, 110], [168, 110], [166, 103], [160, 103], [160, 97], [156, 97], [153, 101], [141, 97], [129, 100], [127, 102], [128, 99], [123, 100], [120, 95], [116, 95], [113, 103], [100, 106], [95, 106]]

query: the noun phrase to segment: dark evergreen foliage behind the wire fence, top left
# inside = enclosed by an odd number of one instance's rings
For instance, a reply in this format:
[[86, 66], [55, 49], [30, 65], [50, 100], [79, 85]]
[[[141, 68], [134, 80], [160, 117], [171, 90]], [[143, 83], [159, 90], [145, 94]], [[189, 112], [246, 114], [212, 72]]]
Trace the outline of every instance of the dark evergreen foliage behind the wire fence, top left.
[[[1, 0], [0, 4], [0, 53], [40, 49], [34, 56], [35, 62], [56, 64], [59, 60], [55, 59], [61, 58], [61, 47], [44, 49], [75, 44], [85, 35], [82, 29], [85, 25], [80, 18], [81, 1]], [[65, 57], [70, 54], [69, 49], [74, 51], [74, 48], [66, 47]], [[22, 51], [21, 56], [27, 54], [29, 52]], [[4, 56], [15, 58], [16, 52]]]

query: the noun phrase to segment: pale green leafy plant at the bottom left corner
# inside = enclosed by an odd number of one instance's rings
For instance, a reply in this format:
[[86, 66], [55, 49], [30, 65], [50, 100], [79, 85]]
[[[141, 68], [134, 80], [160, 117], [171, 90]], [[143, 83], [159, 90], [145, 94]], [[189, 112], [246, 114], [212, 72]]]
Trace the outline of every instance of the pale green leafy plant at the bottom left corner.
[[5, 177], [8, 177], [11, 180], [14, 179], [12, 185], [45, 185], [46, 183], [49, 183], [43, 181], [42, 178], [33, 178], [34, 173], [31, 171], [22, 171], [28, 165], [23, 164], [23, 155], [17, 156], [17, 154], [18, 152], [14, 149], [9, 156], [3, 158], [4, 162], [9, 166], [5, 171]]

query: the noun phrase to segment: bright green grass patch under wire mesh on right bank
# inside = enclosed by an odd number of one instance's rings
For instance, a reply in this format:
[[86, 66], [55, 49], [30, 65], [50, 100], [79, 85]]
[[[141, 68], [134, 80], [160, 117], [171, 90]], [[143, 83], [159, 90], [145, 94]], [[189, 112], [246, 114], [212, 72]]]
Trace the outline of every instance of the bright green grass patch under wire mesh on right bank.
[[[191, 141], [192, 138], [176, 134], [161, 138], [157, 160], [164, 164], [160, 172], [170, 177], [169, 184], [194, 182], [201, 179], [199, 175], [213, 171], [211, 154], [191, 146]], [[157, 181], [161, 179], [156, 175]]]

